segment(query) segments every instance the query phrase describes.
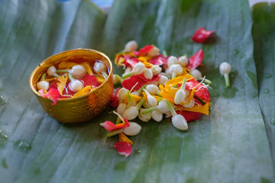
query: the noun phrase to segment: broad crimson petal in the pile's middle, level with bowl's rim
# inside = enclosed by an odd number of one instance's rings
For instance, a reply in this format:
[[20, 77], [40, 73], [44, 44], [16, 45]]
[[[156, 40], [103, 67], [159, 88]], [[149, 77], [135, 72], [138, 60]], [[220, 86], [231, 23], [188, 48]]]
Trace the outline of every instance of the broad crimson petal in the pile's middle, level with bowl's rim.
[[[135, 84], [135, 88], [133, 91], [140, 89], [144, 84], [149, 84], [151, 82], [155, 82], [159, 79], [160, 75], [154, 75], [152, 80], [147, 80], [143, 74], [141, 75], [133, 75], [122, 82], [122, 86], [128, 90], [131, 90]], [[137, 83], [138, 82], [138, 83]]]

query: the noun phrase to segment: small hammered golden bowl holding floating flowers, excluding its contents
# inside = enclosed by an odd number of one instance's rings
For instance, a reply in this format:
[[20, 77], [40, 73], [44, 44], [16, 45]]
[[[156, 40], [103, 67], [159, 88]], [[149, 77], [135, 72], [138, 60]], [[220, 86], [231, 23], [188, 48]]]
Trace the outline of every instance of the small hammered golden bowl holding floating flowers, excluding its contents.
[[[36, 83], [41, 75], [47, 71], [49, 66], [56, 65], [61, 61], [102, 60], [109, 67], [109, 76], [98, 88], [80, 97], [69, 99], [58, 99], [52, 106], [50, 99], [45, 99], [39, 95], [36, 90]], [[111, 60], [100, 51], [94, 49], [73, 49], [63, 51], [50, 58], [47, 58], [41, 64], [36, 66], [30, 76], [30, 88], [41, 103], [41, 106], [51, 117], [63, 123], [80, 123], [89, 121], [98, 117], [104, 111], [111, 101], [113, 95], [113, 66]]]

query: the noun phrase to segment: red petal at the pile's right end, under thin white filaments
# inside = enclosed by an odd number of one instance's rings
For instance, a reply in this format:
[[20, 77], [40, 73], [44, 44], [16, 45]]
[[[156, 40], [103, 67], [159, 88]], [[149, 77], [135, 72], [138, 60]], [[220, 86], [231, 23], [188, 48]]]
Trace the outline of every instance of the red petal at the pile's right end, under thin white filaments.
[[[192, 80], [186, 82], [186, 90], [192, 90], [192, 88], [194, 88], [198, 84], [199, 84], [199, 82], [192, 79]], [[195, 90], [198, 90], [200, 88], [197, 92], [194, 93], [195, 96], [202, 98], [202, 99], [206, 99], [206, 101], [210, 101], [210, 94], [209, 94], [208, 88], [206, 88], [206, 87], [201, 88], [201, 86], [203, 86], [203, 84], [199, 84], [199, 86], [197, 86], [195, 88]]]

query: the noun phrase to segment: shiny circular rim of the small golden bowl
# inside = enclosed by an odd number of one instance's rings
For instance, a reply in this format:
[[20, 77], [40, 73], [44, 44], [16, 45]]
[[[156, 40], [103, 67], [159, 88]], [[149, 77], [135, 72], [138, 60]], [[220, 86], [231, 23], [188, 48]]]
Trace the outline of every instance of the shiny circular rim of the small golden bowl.
[[[91, 93], [96, 92], [99, 88], [101, 88], [101, 87], [107, 82], [107, 80], [109, 80], [109, 77], [111, 77], [111, 73], [113, 73], [113, 64], [112, 64], [111, 60], [109, 59], [109, 57], [108, 57], [105, 53], [102, 53], [102, 52], [97, 51], [97, 50], [95, 50], [95, 49], [83, 49], [83, 48], [79, 48], [79, 49], [69, 49], [69, 50], [67, 50], [67, 51], [62, 51], [61, 53], [57, 53], [57, 54], [54, 54], [53, 56], [50, 56], [50, 57], [46, 58], [45, 60], [43, 60], [42, 62], [40, 62], [40, 63], [36, 66], [36, 68], [34, 69], [34, 71], [32, 71], [32, 75], [30, 75], [30, 88], [32, 89], [32, 92], [33, 92], [35, 95], [37, 95], [37, 96], [39, 96], [39, 97], [42, 97], [41, 95], [39, 95], [38, 91], [36, 91], [36, 88], [34, 88], [34, 85], [33, 85], [33, 82], [32, 82], [33, 77], [34, 77], [34, 73], [36, 73], [36, 71], [39, 69], [39, 66], [40, 66], [41, 64], [47, 62], [47, 60], [50, 60], [50, 59], [53, 58], [53, 57], [56, 57], [56, 56], [61, 55], [61, 54], [64, 54], [64, 53], [67, 53], [67, 52], [69, 52], [69, 51], [93, 51], [93, 52], [96, 52], [96, 53], [98, 53], [98, 54], [104, 56], [104, 58], [107, 58], [107, 60], [108, 60], [108, 62], [109, 62], [109, 64], [110, 64], [110, 71], [109, 71], [109, 75], [108, 75], [107, 79], [106, 79], [102, 84], [100, 84], [100, 86], [98, 86], [96, 89], [91, 90], [89, 93], [86, 93], [86, 94], [81, 95], [81, 96], [79, 96], [79, 97], [74, 97], [74, 98], [72, 97], [72, 98], [67, 98], [67, 99], [58, 99], [58, 101], [71, 101], [71, 100], [76, 100], [76, 99], [84, 98], [84, 97], [90, 95]], [[48, 98], [44, 98], [44, 99], [48, 99]], [[50, 100], [50, 99], [48, 99], [48, 100]]]

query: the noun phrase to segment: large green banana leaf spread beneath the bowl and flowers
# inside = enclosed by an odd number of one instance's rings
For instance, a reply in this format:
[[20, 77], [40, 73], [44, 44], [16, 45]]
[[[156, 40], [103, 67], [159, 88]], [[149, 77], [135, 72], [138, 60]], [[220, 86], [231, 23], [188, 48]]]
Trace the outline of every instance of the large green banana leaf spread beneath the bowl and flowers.
[[[214, 42], [190, 41], [198, 27]], [[248, 1], [117, 0], [107, 16], [88, 0], [0, 1], [0, 175], [3, 182], [272, 182], [272, 158], [257, 98]], [[87, 47], [113, 59], [128, 40], [169, 55], [203, 49], [199, 68], [214, 83], [209, 116], [176, 130], [166, 119], [142, 123], [133, 154], [119, 156], [99, 123], [49, 117], [28, 79], [43, 59]], [[232, 64], [225, 88], [219, 64]], [[122, 70], [115, 68], [115, 72]], [[261, 93], [260, 93], [261, 95]], [[112, 110], [112, 109], [110, 109]]]

